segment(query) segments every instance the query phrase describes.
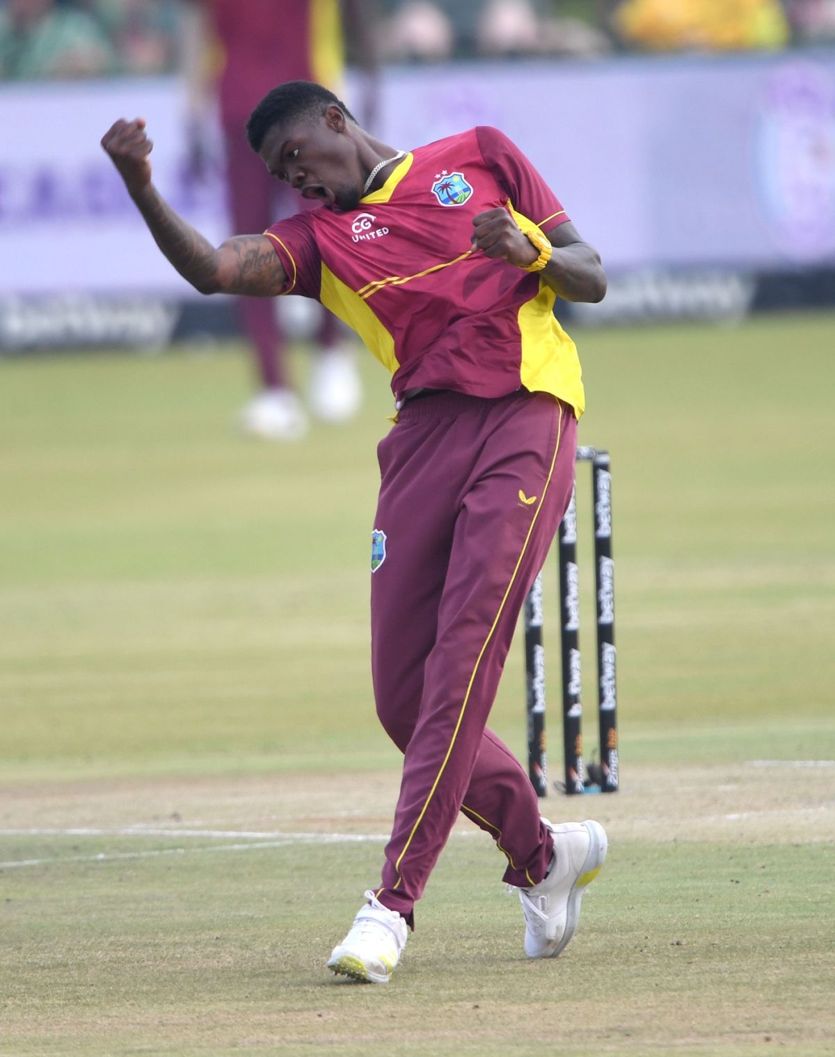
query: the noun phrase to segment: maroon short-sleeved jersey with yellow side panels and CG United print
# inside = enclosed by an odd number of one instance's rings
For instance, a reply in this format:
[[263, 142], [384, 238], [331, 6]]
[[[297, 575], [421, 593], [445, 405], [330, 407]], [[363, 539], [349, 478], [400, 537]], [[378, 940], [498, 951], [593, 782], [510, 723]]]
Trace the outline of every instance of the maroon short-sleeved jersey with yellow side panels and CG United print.
[[521, 227], [568, 220], [545, 181], [496, 129], [479, 127], [407, 154], [356, 209], [319, 208], [266, 234], [284, 293], [320, 300], [416, 388], [505, 396], [521, 386], [584, 407], [573, 341], [535, 273], [472, 249], [473, 218], [504, 206]]

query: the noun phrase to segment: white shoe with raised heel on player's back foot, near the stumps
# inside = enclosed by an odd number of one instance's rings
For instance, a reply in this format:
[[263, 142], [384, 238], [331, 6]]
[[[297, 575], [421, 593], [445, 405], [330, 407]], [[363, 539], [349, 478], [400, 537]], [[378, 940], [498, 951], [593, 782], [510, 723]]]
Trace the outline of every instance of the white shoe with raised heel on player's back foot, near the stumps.
[[533, 888], [520, 888], [525, 913], [525, 953], [556, 958], [574, 934], [583, 893], [600, 873], [608, 840], [600, 822], [543, 821], [554, 838], [548, 875]]

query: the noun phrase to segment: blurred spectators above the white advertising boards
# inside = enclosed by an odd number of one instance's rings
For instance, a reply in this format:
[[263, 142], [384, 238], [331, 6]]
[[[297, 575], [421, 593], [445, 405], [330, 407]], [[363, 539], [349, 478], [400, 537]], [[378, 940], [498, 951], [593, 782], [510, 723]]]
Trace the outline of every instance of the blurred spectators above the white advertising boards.
[[[173, 72], [190, 2], [200, 0], [0, 0], [0, 78]], [[374, 0], [374, 6], [383, 61], [592, 58], [835, 40], [835, 0]]]

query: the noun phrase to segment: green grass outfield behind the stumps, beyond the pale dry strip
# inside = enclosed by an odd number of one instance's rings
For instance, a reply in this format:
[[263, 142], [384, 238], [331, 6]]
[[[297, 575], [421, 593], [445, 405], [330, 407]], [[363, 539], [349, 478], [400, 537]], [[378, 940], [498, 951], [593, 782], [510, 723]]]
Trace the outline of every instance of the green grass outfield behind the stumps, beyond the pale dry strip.
[[[730, 760], [747, 735], [694, 747], [681, 724], [791, 711], [791, 752], [833, 755], [835, 321], [580, 339], [582, 440], [613, 458], [625, 746]], [[235, 438], [230, 355], [1, 365], [6, 776], [391, 763], [366, 665], [390, 400], [367, 366], [360, 421], [281, 447]], [[514, 655], [494, 713], [519, 749], [520, 680]]]

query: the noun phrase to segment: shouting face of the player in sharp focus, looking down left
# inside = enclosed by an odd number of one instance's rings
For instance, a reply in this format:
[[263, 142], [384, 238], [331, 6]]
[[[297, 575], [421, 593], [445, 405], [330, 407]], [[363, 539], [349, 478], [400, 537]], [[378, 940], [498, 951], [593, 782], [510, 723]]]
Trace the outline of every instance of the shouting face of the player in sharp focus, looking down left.
[[362, 178], [354, 141], [337, 107], [317, 120], [276, 125], [259, 152], [273, 177], [302, 198], [328, 209], [354, 209], [362, 197]]

